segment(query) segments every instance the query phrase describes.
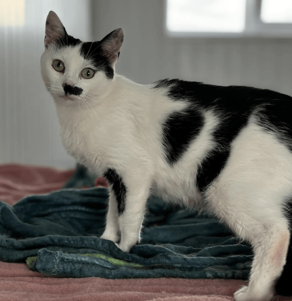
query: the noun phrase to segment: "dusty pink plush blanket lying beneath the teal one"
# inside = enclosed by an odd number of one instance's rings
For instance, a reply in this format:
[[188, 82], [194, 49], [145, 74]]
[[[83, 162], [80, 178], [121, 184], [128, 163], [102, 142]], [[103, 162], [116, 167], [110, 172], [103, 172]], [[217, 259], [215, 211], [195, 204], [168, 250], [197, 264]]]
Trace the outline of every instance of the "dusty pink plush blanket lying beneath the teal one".
[[[13, 205], [30, 194], [61, 189], [73, 170], [19, 164], [0, 166], [0, 200]], [[96, 185], [105, 185], [97, 179]], [[241, 280], [54, 278], [30, 271], [24, 263], [0, 263], [0, 301], [226, 301]], [[275, 297], [274, 300], [292, 300]]]

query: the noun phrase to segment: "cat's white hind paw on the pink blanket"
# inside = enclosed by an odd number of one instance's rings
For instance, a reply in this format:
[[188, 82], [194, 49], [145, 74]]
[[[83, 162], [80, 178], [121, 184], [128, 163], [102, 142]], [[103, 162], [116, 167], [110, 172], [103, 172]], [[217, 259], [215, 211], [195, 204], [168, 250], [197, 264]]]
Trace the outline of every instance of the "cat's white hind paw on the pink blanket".
[[235, 301], [271, 301], [274, 297], [274, 292], [270, 290], [253, 290], [248, 286], [241, 287], [234, 293]]

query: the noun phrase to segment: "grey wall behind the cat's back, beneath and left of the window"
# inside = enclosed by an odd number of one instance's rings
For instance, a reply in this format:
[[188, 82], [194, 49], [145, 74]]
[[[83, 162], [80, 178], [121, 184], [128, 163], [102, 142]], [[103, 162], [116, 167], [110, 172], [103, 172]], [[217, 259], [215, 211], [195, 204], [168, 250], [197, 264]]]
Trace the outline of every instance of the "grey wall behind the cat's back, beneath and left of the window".
[[169, 38], [164, 0], [94, 1], [93, 36], [125, 29], [116, 71], [139, 83], [181, 78], [292, 95], [292, 40]]

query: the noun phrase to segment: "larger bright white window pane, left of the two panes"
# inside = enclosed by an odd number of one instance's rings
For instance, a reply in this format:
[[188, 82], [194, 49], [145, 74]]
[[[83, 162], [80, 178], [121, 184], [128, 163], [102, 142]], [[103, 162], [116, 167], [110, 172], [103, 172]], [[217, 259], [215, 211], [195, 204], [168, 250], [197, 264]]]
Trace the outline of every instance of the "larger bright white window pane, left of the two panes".
[[240, 33], [245, 10], [246, 0], [167, 0], [166, 27], [171, 32]]

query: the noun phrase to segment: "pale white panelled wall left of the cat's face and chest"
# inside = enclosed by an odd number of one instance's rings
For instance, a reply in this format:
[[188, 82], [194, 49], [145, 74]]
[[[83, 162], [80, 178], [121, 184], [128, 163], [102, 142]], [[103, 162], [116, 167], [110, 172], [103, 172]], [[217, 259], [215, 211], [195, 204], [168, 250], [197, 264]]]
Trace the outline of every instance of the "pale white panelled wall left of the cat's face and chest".
[[0, 26], [0, 163], [75, 163], [61, 145], [54, 104], [40, 74], [50, 10], [69, 34], [91, 39], [89, 0], [26, 0], [24, 26]]

